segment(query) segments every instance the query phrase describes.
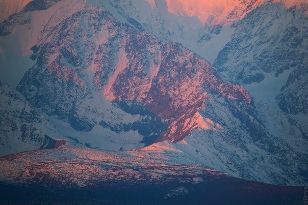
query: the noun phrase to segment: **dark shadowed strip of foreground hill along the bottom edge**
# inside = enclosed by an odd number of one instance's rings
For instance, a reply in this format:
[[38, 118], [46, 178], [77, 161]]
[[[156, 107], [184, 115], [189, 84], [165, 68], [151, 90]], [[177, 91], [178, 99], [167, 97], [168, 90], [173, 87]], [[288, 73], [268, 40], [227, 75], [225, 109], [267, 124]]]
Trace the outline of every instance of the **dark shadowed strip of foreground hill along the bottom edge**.
[[198, 184], [101, 184], [62, 189], [0, 185], [1, 204], [302, 204], [303, 187], [275, 186], [221, 176]]

